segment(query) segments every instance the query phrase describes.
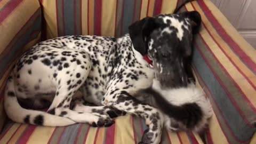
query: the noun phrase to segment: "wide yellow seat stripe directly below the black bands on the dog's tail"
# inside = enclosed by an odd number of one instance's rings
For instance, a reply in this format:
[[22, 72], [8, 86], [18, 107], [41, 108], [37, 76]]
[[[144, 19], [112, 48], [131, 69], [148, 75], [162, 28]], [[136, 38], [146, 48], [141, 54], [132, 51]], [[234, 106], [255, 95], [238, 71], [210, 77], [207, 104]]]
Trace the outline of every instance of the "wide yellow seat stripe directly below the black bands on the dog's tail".
[[37, 126], [27, 143], [47, 143], [54, 130], [55, 127]]

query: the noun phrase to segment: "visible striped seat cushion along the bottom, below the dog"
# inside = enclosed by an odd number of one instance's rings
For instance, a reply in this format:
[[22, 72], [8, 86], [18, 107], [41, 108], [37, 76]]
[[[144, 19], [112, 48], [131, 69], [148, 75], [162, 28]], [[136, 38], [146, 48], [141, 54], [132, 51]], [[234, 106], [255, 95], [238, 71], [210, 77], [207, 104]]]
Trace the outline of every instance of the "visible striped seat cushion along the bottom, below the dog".
[[[118, 117], [115, 122], [107, 128], [90, 127], [88, 124], [43, 127], [9, 122], [0, 135], [0, 143], [138, 143], [146, 129], [144, 121], [131, 115]], [[195, 133], [170, 133], [164, 130], [161, 143], [203, 142]]]

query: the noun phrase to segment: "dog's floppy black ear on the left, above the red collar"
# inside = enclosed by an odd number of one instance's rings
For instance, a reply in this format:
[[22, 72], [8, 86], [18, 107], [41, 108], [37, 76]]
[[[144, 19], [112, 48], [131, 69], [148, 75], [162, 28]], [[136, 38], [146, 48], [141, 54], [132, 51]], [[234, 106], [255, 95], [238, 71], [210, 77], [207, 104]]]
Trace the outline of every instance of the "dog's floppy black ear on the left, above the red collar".
[[148, 37], [155, 28], [155, 19], [151, 17], [136, 21], [131, 26], [129, 26], [129, 34], [133, 47], [136, 51], [140, 52], [141, 55], [147, 54], [147, 42], [149, 40]]

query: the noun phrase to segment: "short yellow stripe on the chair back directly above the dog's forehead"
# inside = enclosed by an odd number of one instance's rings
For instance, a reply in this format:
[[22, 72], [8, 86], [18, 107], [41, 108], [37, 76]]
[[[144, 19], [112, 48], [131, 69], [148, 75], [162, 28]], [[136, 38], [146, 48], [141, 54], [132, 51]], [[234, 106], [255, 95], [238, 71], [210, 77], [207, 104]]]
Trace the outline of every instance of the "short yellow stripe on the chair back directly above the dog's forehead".
[[177, 3], [178, 3], [178, 0], [172, 0], [172, 1], [163, 0], [161, 13], [163, 13], [163, 14], [173, 13], [173, 11], [176, 8]]

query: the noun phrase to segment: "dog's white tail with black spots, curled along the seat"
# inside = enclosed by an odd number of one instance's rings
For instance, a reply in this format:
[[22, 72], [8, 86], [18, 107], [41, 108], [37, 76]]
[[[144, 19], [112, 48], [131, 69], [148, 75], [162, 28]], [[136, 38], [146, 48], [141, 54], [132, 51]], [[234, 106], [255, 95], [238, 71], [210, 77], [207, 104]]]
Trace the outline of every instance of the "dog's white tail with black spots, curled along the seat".
[[44, 126], [66, 126], [75, 122], [69, 118], [48, 114], [44, 111], [22, 108], [15, 94], [13, 74], [9, 76], [4, 93], [4, 108], [14, 122]]

